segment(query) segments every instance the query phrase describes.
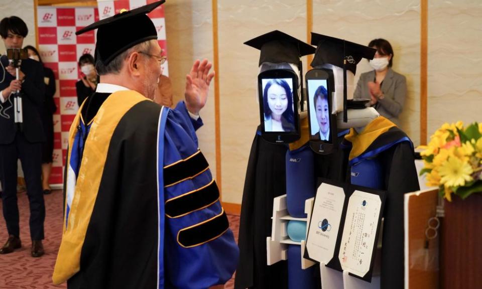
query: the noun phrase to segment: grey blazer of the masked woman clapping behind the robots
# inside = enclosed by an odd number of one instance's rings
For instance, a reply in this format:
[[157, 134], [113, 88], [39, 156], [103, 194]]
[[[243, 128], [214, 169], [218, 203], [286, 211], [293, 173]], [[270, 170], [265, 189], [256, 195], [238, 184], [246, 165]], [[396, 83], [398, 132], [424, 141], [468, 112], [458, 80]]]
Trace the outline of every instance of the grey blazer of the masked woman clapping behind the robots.
[[[375, 70], [360, 75], [353, 98], [370, 99], [370, 90], [368, 88], [368, 82], [370, 81], [375, 81]], [[407, 80], [405, 76], [389, 68], [382, 82], [381, 89], [385, 97], [379, 99], [374, 107], [382, 116], [399, 125], [398, 115], [403, 110], [405, 97], [407, 96]]]

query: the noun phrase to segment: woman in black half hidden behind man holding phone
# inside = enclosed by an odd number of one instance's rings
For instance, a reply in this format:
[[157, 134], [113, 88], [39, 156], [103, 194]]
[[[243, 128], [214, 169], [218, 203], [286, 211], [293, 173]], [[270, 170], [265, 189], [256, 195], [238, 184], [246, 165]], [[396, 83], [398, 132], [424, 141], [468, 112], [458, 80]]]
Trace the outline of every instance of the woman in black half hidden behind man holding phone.
[[37, 49], [31, 45], [25, 47], [29, 52], [29, 58], [39, 61], [44, 67], [44, 83], [45, 83], [45, 98], [41, 108], [40, 116], [42, 118], [42, 125], [44, 126], [45, 142], [42, 145], [42, 189], [45, 195], [50, 194], [49, 180], [50, 172], [52, 170], [52, 155], [54, 152], [54, 121], [53, 115], [57, 110], [57, 105], [54, 102], [55, 91], [55, 76], [54, 71], [42, 62]]

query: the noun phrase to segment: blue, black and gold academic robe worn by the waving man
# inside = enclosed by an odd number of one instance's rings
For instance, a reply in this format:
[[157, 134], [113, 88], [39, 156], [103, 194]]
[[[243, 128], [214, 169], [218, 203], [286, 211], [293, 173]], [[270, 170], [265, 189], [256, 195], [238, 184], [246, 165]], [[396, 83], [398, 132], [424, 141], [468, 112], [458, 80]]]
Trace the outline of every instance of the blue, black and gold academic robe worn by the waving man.
[[169, 109], [135, 91], [90, 98], [69, 133], [54, 282], [186, 289], [226, 282], [238, 249], [198, 149], [202, 121], [183, 102]]

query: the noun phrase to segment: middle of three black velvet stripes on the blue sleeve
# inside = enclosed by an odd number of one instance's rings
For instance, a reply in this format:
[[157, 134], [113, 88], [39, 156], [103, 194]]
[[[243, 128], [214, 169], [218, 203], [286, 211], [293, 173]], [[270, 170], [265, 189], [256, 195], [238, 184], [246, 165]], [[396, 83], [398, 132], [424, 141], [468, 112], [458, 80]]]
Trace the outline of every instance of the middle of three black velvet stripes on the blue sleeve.
[[177, 218], [205, 208], [219, 199], [219, 190], [214, 180], [195, 191], [170, 199], [164, 205], [166, 215]]

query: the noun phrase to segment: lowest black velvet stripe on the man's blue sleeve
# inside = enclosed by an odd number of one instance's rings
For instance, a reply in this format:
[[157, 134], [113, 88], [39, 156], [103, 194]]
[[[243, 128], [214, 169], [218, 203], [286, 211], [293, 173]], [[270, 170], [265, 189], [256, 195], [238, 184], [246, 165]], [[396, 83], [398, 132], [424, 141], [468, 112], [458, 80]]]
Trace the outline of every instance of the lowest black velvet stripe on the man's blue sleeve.
[[185, 248], [199, 246], [221, 236], [228, 228], [229, 222], [222, 210], [219, 215], [203, 223], [180, 230], [177, 241]]

